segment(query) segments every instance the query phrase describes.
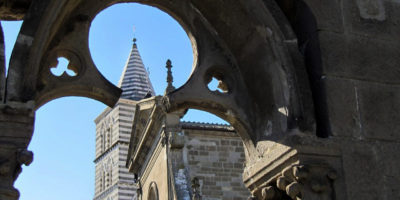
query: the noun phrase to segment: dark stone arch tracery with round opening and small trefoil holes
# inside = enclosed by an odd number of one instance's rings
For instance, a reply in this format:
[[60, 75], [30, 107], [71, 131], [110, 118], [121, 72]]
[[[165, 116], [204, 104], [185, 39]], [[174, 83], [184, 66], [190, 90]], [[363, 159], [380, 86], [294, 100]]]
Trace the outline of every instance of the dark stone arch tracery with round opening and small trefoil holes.
[[[121, 93], [94, 65], [90, 23], [101, 10], [122, 2], [155, 6], [187, 31], [194, 49], [192, 74], [165, 97], [167, 112], [195, 108], [231, 123], [241, 136], [247, 162], [265, 152], [260, 141], [282, 141], [291, 130], [313, 131], [307, 76], [285, 40], [282, 22], [262, 1], [78, 0], [33, 1], [13, 50], [8, 102], [35, 102], [34, 109], [62, 96], [85, 96], [112, 106]], [[33, 40], [34, 38], [34, 40]], [[74, 77], [49, 74], [58, 57], [70, 61]], [[25, 67], [28, 66], [28, 67]], [[226, 94], [207, 88], [216, 77]], [[19, 81], [24, 80], [24, 81]]]

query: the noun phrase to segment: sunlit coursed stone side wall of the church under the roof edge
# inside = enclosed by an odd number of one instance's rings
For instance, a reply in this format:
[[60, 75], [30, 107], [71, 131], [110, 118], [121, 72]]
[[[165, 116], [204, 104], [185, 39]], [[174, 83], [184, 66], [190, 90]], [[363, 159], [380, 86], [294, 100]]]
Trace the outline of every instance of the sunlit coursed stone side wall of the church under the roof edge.
[[245, 155], [235, 132], [183, 129], [184, 157], [191, 179], [197, 177], [205, 200], [246, 199], [250, 193], [243, 185]]

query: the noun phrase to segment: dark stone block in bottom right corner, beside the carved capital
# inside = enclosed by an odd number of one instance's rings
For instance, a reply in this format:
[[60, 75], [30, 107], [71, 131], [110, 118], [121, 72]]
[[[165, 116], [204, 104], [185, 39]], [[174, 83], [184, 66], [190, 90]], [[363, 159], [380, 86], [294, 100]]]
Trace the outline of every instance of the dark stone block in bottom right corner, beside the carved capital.
[[343, 144], [343, 169], [348, 199], [400, 199], [400, 144]]

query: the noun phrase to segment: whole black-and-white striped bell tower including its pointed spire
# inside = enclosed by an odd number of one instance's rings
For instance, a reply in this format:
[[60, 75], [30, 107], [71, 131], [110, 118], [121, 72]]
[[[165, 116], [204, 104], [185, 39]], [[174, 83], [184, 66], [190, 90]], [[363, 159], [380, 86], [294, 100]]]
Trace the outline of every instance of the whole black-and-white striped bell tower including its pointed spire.
[[96, 119], [95, 194], [93, 200], [136, 199], [134, 175], [125, 167], [137, 101], [154, 96], [136, 39], [118, 83], [121, 98]]

